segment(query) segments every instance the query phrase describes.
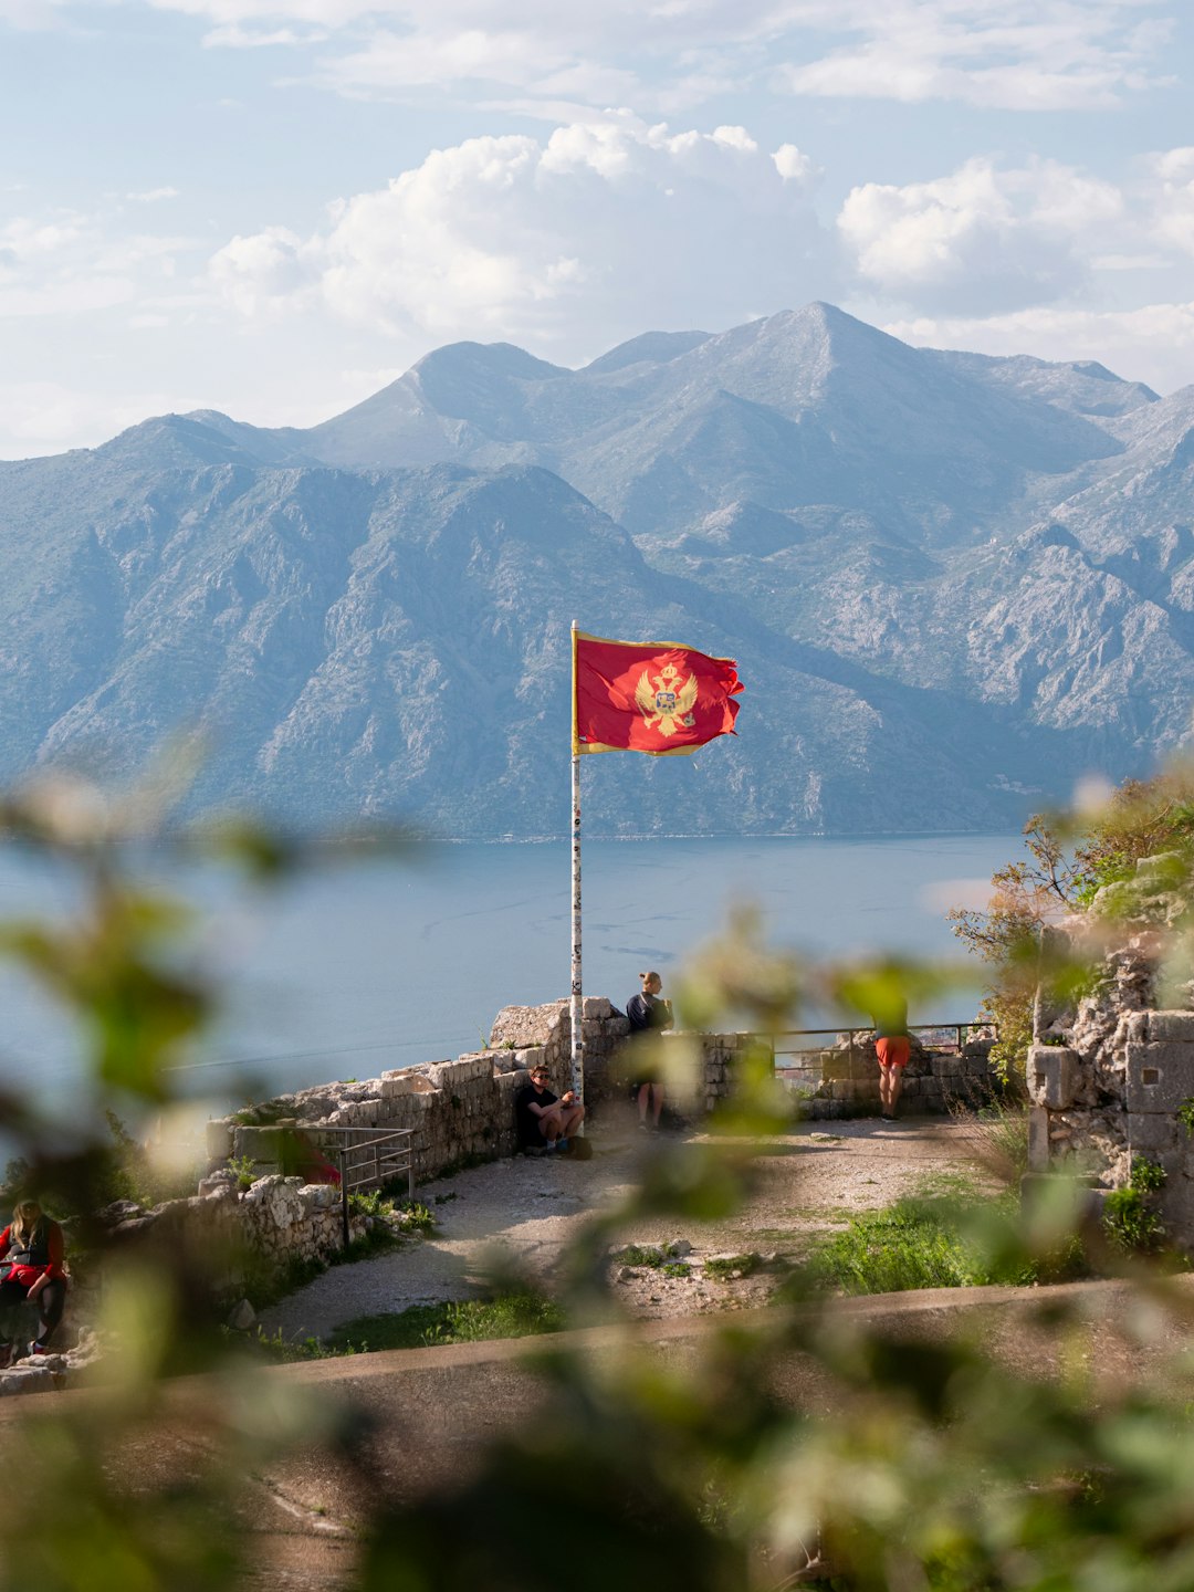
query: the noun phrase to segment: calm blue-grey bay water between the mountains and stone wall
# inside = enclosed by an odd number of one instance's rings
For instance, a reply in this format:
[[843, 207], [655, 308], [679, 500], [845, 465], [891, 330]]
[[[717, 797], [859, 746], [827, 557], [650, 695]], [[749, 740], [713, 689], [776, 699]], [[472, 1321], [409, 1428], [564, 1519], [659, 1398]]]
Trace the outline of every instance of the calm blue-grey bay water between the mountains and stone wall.
[[[736, 903], [761, 909], [774, 944], [810, 955], [954, 955], [946, 906], [974, 903], [1019, 849], [1006, 834], [591, 841], [586, 990], [624, 1005], [646, 966], [667, 985]], [[224, 1016], [185, 1075], [189, 1087], [245, 1098], [441, 1060], [476, 1049], [501, 1006], [567, 993], [567, 842], [428, 844], [416, 856], [315, 874], [267, 899], [169, 876], [202, 904], [202, 950], [226, 984]], [[70, 880], [0, 853], [0, 917], [67, 911], [70, 896]], [[11, 974], [0, 1000], [0, 1073], [68, 1091], [78, 1070], [70, 1028]], [[912, 1017], [966, 1017], [974, 995], [949, 1006]]]

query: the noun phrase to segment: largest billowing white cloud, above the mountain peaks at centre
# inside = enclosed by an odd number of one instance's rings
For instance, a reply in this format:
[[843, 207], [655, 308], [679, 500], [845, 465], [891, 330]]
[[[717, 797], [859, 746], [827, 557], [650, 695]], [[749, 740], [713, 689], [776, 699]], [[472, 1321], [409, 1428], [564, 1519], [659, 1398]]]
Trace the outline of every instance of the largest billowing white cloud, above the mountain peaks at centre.
[[468, 139], [338, 202], [312, 237], [232, 239], [210, 274], [244, 315], [322, 302], [390, 336], [551, 349], [586, 330], [726, 325], [833, 288], [802, 161], [742, 127], [672, 132], [629, 113], [546, 140]]

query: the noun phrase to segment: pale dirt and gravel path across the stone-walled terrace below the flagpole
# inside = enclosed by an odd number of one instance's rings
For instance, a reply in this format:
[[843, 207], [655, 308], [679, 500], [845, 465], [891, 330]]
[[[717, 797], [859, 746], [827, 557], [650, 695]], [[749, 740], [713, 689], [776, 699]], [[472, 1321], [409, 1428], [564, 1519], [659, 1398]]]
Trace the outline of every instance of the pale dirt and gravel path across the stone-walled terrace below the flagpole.
[[[263, 1326], [280, 1328], [287, 1337], [326, 1337], [361, 1315], [478, 1297], [495, 1270], [511, 1266], [551, 1286], [552, 1269], [579, 1224], [624, 1200], [650, 1157], [683, 1157], [707, 1141], [699, 1134], [645, 1138], [629, 1119], [615, 1119], [594, 1134], [592, 1161], [516, 1157], [430, 1183], [419, 1191], [438, 1221], [430, 1237], [333, 1267], [269, 1310]], [[794, 1258], [815, 1234], [844, 1226], [855, 1212], [882, 1208], [925, 1184], [989, 1178], [968, 1130], [941, 1118], [801, 1124], [755, 1141], [755, 1186], [732, 1218], [637, 1221], [622, 1229], [622, 1243], [683, 1240], [693, 1247], [688, 1259], [694, 1264], [685, 1277], [615, 1269], [619, 1299], [632, 1315], [659, 1320], [761, 1304], [774, 1277], [720, 1282], [705, 1277], [700, 1262], [750, 1251]]]

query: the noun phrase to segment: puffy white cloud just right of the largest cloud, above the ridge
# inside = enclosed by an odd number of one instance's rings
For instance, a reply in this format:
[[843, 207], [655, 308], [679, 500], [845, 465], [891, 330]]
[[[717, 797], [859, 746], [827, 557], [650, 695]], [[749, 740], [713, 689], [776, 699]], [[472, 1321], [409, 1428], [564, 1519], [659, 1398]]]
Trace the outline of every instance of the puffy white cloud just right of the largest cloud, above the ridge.
[[1114, 240], [1121, 193], [1054, 161], [989, 159], [898, 188], [853, 188], [837, 217], [861, 277], [936, 310], [1014, 310], [1071, 293], [1092, 240]]

